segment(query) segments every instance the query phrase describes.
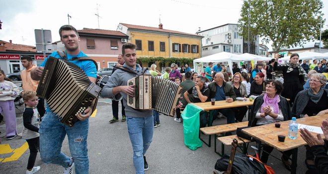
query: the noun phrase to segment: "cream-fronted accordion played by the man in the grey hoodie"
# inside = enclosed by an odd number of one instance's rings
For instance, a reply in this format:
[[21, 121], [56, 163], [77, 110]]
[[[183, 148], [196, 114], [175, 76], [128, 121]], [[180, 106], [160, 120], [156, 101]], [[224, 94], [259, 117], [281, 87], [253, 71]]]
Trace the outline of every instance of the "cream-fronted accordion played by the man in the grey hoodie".
[[182, 87], [159, 76], [143, 75], [128, 81], [135, 88], [134, 96], [128, 95], [128, 106], [139, 110], [152, 108], [165, 115], [174, 116]]

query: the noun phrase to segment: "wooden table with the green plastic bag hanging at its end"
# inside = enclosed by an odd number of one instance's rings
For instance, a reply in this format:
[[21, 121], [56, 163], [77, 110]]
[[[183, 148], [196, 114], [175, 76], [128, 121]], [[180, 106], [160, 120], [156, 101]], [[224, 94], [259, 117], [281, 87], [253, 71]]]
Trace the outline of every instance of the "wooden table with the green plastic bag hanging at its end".
[[[249, 101], [249, 98], [246, 98], [246, 101], [233, 101], [231, 103], [226, 102], [226, 100], [222, 100], [222, 101], [215, 101], [215, 104], [212, 105], [211, 101], [208, 102], [203, 102], [203, 103], [191, 103], [194, 104], [200, 108], [202, 108], [203, 110], [210, 112], [210, 117], [209, 117], [209, 125], [208, 126], [212, 126], [212, 119], [213, 119], [213, 111], [215, 109], [224, 109], [224, 108], [232, 108], [232, 107], [241, 107], [241, 106], [249, 106], [249, 105], [253, 105], [254, 100]], [[199, 132], [200, 133], [200, 132]], [[202, 140], [208, 147], [211, 147], [211, 135], [209, 135], [209, 139], [208, 139], [208, 144], [200, 138], [199, 135], [199, 139]]]

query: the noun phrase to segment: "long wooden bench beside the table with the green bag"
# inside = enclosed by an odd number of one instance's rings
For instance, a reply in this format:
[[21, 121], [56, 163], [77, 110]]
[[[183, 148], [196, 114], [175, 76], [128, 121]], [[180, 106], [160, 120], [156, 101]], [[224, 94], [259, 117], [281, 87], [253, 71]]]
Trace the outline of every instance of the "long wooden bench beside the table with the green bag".
[[[216, 135], [217, 136], [224, 136], [227, 132], [236, 131], [239, 127], [246, 127], [248, 125], [248, 121], [238, 122], [238, 123], [230, 123], [230, 124], [222, 124], [217, 126], [210, 126], [210, 127], [202, 127], [199, 129], [200, 132], [203, 132], [205, 135]], [[199, 132], [199, 133], [200, 133]], [[219, 134], [219, 135], [217, 135]], [[220, 135], [221, 134], [221, 135]], [[199, 139], [202, 140], [208, 147], [211, 147], [211, 139], [209, 138], [208, 144], [201, 139], [199, 134]], [[216, 148], [216, 141], [215, 141], [215, 148]]]

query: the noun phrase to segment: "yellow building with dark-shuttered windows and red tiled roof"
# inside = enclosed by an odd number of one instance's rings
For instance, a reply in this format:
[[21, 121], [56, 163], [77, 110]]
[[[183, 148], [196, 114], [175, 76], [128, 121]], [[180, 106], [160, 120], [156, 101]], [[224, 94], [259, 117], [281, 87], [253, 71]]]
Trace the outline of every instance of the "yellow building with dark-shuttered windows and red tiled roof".
[[203, 36], [179, 31], [120, 23], [117, 31], [129, 36], [126, 42], [137, 45], [138, 57], [200, 58]]

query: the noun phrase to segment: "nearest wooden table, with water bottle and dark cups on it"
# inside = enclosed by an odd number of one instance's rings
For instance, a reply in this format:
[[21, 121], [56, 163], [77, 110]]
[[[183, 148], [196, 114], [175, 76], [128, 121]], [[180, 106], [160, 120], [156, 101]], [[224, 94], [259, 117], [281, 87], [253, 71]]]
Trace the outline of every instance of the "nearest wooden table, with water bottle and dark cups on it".
[[[321, 116], [312, 116], [312, 117], [305, 117], [296, 119], [298, 124], [306, 124], [311, 126], [318, 126], [322, 125], [322, 121], [328, 118], [328, 114], [321, 115]], [[256, 140], [259, 140], [259, 147], [261, 143], [265, 143], [268, 146], [271, 146], [279, 151], [288, 151], [293, 150], [292, 153], [292, 170], [291, 174], [296, 174], [297, 168], [297, 149], [298, 147], [307, 145], [307, 143], [302, 139], [300, 136], [300, 131], [298, 130], [297, 138], [292, 140], [288, 138], [288, 131], [289, 131], [289, 123], [288, 121], [282, 121], [280, 128], [276, 128], [274, 123], [266, 124], [262, 126], [251, 127], [247, 129], [243, 129], [243, 132], [252, 136]], [[313, 133], [313, 132], [312, 132]], [[316, 135], [316, 133], [313, 133]], [[278, 141], [278, 135], [285, 135], [286, 139], [285, 142]], [[325, 138], [322, 135], [323, 138]], [[260, 149], [260, 148], [258, 148]], [[260, 154], [260, 152], [259, 152]]]

